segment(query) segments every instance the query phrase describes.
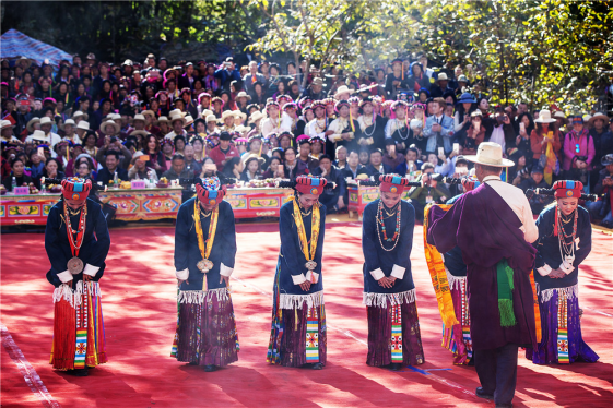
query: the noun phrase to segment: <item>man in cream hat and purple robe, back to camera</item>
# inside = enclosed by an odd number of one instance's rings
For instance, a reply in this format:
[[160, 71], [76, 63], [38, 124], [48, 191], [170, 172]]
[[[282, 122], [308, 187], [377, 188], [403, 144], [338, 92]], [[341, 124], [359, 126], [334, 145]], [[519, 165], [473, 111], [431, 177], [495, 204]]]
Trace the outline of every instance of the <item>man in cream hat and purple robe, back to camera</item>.
[[[520, 346], [537, 347], [531, 285], [539, 238], [530, 204], [520, 189], [500, 180], [500, 145], [480, 144], [475, 164], [481, 185], [463, 194], [445, 212], [428, 213], [427, 242], [446, 253], [459, 247], [467, 263], [470, 333], [474, 367], [481, 382], [476, 395], [511, 407]], [[537, 309], [538, 310], [538, 309]]]

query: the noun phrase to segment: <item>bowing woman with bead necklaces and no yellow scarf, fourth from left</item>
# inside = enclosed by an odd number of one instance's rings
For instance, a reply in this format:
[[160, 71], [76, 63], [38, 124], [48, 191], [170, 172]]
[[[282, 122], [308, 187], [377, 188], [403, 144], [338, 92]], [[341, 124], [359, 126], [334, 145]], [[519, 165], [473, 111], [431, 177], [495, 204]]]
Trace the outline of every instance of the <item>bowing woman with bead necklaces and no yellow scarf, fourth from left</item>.
[[368, 315], [366, 363], [400, 370], [424, 363], [411, 248], [415, 209], [401, 200], [409, 180], [379, 176], [380, 197], [364, 208], [364, 304]]

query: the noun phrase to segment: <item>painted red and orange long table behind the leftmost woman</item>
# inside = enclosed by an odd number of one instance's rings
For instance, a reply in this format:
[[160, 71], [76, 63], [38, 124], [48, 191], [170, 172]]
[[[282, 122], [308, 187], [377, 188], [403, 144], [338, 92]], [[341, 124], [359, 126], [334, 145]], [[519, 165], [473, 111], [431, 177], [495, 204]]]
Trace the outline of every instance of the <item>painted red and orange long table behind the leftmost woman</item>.
[[[110, 189], [98, 192], [103, 203], [117, 208], [116, 218], [155, 220], [176, 218], [181, 205], [180, 187], [166, 189]], [[60, 200], [60, 193], [15, 195], [7, 193], [0, 197], [0, 223], [12, 225], [46, 225], [49, 211]]]

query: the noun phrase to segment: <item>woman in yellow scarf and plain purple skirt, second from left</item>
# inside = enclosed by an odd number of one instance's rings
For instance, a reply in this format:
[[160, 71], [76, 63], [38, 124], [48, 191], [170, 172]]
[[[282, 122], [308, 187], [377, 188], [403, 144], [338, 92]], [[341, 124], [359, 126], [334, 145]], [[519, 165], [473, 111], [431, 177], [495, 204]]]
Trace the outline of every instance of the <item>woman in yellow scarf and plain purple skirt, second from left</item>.
[[179, 293], [172, 357], [212, 372], [238, 361], [238, 335], [228, 290], [236, 231], [220, 179], [197, 178], [194, 183], [197, 195], [180, 206], [175, 230]]

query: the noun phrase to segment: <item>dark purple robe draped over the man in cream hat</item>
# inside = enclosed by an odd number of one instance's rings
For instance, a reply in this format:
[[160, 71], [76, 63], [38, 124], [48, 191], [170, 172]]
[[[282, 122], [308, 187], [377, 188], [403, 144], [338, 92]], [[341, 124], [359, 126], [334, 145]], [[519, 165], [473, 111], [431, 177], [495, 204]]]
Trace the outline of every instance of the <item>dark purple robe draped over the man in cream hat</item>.
[[[429, 212], [427, 242], [438, 252], [458, 245], [467, 264], [473, 348], [494, 349], [506, 344], [535, 346], [534, 303], [530, 273], [535, 250], [519, 229], [521, 221], [496, 191], [481, 184], [444, 212]], [[496, 264], [506, 259], [514, 269], [512, 309], [516, 325], [500, 326]]]

